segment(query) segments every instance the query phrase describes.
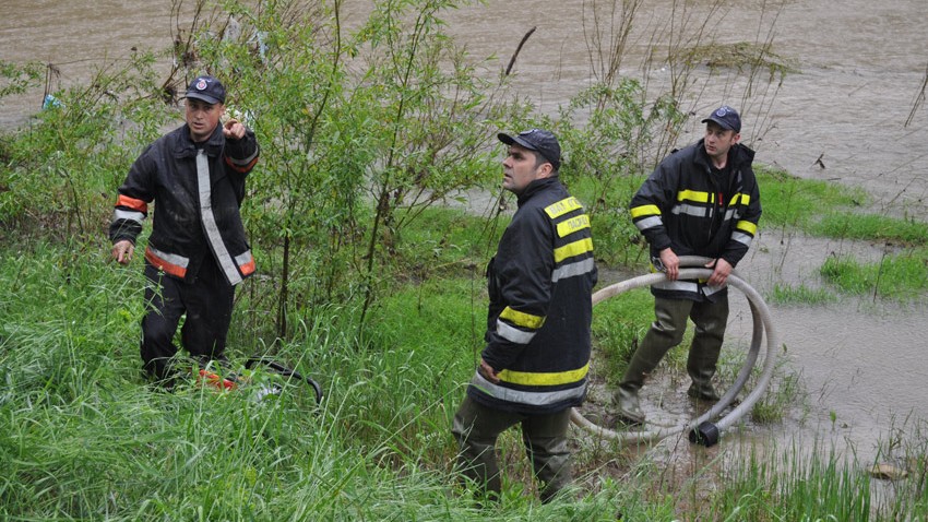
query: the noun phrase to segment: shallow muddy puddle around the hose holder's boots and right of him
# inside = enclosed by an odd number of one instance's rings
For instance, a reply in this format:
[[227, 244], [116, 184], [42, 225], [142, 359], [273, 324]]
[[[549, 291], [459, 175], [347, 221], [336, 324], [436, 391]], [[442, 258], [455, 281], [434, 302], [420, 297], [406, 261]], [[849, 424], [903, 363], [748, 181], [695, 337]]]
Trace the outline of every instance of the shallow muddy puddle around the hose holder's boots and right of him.
[[[818, 268], [832, 254], [853, 252], [862, 261], [876, 261], [883, 254], [883, 247], [868, 242], [799, 236], [786, 241], [770, 233], [760, 237], [757, 248], [738, 266], [741, 276], [761, 295], [768, 295], [776, 283], [823, 285]], [[603, 271], [602, 286], [634, 275], [640, 274]], [[730, 292], [725, 349], [747, 349], [752, 333], [751, 312], [743, 295], [736, 289]], [[746, 416], [730, 432], [723, 434], [721, 446], [745, 448], [772, 442], [781, 449], [795, 447], [800, 451], [828, 447], [862, 465], [872, 463], [879, 456], [880, 443], [885, 449], [897, 430], [913, 428], [914, 420], [928, 419], [928, 403], [924, 400], [928, 394], [928, 364], [924, 357], [928, 320], [919, 306], [875, 302], [870, 297], [844, 297], [825, 306], [768, 305], [785, 346], [785, 352], [776, 354], [778, 364], [784, 365], [777, 373], [797, 376], [808, 396], [805, 403], [795, 404], [782, 423], [758, 425]], [[766, 339], [759, 365], [765, 349]], [[662, 364], [658, 373], [642, 389], [642, 407], [658, 425], [682, 425], [706, 407], [694, 405], [686, 396], [686, 375], [669, 376], [665, 366]], [[776, 384], [774, 378], [772, 385]], [[746, 388], [742, 396], [750, 391]], [[597, 382], [582, 410], [584, 415], [605, 419], [603, 426], [609, 428], [615, 422], [610, 393]], [[652, 456], [666, 463], [677, 459], [686, 463], [705, 451], [688, 446], [686, 434], [670, 437], [657, 446]]]

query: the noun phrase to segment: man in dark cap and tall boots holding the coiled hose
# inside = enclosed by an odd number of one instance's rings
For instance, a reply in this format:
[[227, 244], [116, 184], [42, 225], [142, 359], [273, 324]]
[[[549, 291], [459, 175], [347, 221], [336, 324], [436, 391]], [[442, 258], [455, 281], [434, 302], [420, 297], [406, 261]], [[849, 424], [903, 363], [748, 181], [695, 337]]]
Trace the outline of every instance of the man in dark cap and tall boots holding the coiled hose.
[[[738, 143], [741, 118], [728, 106], [706, 119], [705, 137], [666, 157], [632, 198], [634, 225], [651, 247], [655, 269], [667, 280], [651, 287], [655, 320], [632, 355], [615, 393], [619, 417], [641, 424], [638, 392], [644, 379], [678, 345], [687, 319], [695, 324], [687, 360], [687, 394], [717, 401], [712, 384], [728, 321], [726, 281], [745, 257], [761, 216], [751, 163], [754, 152]], [[679, 256], [711, 258], [709, 280], [679, 281]]]

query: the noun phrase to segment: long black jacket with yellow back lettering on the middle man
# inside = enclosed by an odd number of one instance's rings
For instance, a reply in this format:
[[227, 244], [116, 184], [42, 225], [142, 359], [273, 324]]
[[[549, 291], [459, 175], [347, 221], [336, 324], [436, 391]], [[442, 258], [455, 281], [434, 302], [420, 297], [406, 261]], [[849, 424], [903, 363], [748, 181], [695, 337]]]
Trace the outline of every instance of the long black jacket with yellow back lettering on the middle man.
[[487, 268], [489, 309], [484, 360], [468, 395], [524, 414], [580, 405], [590, 369], [592, 290], [597, 271], [590, 218], [557, 177], [535, 180]]

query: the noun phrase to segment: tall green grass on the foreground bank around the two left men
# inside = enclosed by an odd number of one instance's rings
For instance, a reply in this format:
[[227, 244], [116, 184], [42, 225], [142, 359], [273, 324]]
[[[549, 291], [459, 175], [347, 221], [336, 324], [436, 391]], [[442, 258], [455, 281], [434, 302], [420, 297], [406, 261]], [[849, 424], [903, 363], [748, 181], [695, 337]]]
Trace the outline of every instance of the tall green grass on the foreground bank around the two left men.
[[[355, 310], [332, 306], [266, 348], [322, 383], [317, 408], [300, 385], [260, 402], [247, 388], [219, 394], [192, 380], [174, 393], [151, 389], [138, 359], [140, 266], [85, 262], [74, 249], [0, 248], [0, 282], [11, 289], [0, 296], [7, 520], [719, 520], [783, 502], [790, 514], [846, 515], [856, 512], [843, 506], [870, 502], [859, 479], [793, 455], [775, 470], [731, 464], [737, 479], [719, 482], [703, 506], [675, 489], [686, 485], [591, 462], [576, 501], [542, 506], [512, 431], [500, 444], [503, 503], [480, 511], [451, 473], [449, 432], [483, 345], [479, 273], [397, 286], [360, 336]], [[650, 295], [635, 294], [597, 305], [597, 342], [621, 344], [646, 327]], [[236, 343], [242, 333], [233, 334], [234, 364], [254, 352]], [[832, 485], [825, 503], [809, 502], [804, 479]], [[768, 490], [761, 484], [776, 485], [766, 499], [752, 497]], [[924, 515], [920, 502], [913, 493], [885, 509]]]

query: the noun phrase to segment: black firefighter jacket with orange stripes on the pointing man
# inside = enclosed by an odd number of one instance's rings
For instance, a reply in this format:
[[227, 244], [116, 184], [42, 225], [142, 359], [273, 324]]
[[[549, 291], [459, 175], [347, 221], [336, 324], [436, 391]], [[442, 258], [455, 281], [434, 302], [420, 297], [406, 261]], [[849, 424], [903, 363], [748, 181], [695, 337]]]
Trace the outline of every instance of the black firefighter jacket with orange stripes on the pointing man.
[[163, 135], [135, 159], [119, 187], [109, 238], [133, 244], [155, 201], [145, 259], [188, 283], [213, 256], [229, 284], [254, 272], [239, 212], [245, 177], [258, 162], [250, 130], [240, 140], [223, 135], [222, 124], [198, 150], [187, 124]]

